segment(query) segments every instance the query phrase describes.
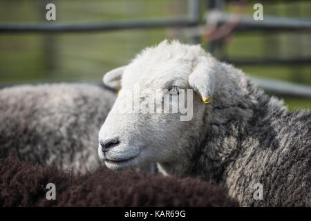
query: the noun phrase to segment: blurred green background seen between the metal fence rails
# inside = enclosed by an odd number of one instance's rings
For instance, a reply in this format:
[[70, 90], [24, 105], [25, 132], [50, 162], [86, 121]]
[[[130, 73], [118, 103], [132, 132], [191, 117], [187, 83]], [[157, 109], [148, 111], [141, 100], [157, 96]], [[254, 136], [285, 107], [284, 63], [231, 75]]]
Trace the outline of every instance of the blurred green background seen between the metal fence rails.
[[[46, 3], [55, 3], [57, 21], [46, 21]], [[256, 1], [257, 3], [257, 1]], [[265, 15], [310, 19], [311, 1], [258, 1]], [[252, 16], [254, 3], [246, 14]], [[227, 4], [225, 11], [236, 6]], [[207, 1], [200, 1], [205, 22]], [[1, 0], [1, 23], [99, 23], [130, 19], [185, 17], [187, 0]], [[101, 81], [107, 71], [127, 64], [142, 48], [163, 39], [190, 42], [176, 28], [118, 30], [66, 34], [0, 33], [0, 83], [39, 81]], [[209, 42], [200, 39], [203, 47]], [[236, 32], [225, 44], [227, 58], [311, 57], [310, 32]], [[216, 55], [218, 55], [216, 53]], [[220, 57], [221, 59], [221, 57]], [[238, 66], [248, 75], [311, 86], [311, 64]], [[290, 109], [311, 108], [311, 100], [285, 97]]]

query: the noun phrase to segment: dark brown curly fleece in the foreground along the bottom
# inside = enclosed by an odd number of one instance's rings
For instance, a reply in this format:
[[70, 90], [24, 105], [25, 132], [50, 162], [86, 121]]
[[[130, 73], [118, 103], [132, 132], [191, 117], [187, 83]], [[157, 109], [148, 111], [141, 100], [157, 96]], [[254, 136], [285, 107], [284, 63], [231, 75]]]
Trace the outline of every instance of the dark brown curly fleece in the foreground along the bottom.
[[[0, 206], [238, 206], [213, 182], [97, 169], [76, 175], [8, 157], [0, 163]], [[46, 200], [46, 184], [56, 200]]]

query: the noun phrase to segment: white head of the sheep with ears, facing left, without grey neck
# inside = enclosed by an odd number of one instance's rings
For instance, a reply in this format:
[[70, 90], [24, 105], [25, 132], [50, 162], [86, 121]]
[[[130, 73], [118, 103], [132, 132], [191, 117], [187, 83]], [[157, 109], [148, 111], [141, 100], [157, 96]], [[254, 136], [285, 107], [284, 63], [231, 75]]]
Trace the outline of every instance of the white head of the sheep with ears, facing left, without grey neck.
[[164, 41], [104, 76], [105, 84], [122, 88], [99, 133], [107, 167], [167, 164], [187, 155], [208, 108], [201, 96], [211, 97], [214, 87], [211, 67], [200, 64], [206, 55], [199, 46]]

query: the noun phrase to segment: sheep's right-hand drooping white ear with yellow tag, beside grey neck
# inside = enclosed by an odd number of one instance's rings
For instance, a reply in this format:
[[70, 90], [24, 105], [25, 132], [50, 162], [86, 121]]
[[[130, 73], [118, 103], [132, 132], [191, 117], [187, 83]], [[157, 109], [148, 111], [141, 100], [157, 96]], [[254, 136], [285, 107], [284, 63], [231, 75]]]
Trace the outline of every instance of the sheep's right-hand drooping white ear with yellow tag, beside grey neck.
[[194, 71], [189, 76], [189, 84], [202, 96], [205, 104], [211, 103], [216, 88], [216, 60], [212, 57], [200, 57]]

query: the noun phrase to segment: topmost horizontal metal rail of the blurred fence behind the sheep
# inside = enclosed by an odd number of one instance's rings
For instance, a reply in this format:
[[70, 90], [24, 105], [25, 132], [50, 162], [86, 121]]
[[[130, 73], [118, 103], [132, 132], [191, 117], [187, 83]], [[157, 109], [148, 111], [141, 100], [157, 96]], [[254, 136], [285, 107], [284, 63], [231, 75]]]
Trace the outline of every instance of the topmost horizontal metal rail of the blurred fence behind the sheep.
[[[198, 10], [194, 8], [194, 10]], [[0, 23], [0, 33], [15, 32], [107, 32], [113, 30], [125, 29], [144, 29], [144, 28], [178, 28], [194, 27], [199, 25], [199, 19], [194, 17], [195, 12], [191, 13], [189, 18], [178, 19], [157, 19], [157, 20], [133, 20], [133, 21], [115, 21], [111, 23]], [[216, 15], [211, 12], [207, 20]], [[230, 15], [223, 13], [217, 15], [216, 23], [230, 23]], [[214, 19], [213, 19], [214, 20]], [[288, 19], [282, 17], [265, 16], [263, 21], [255, 21], [252, 17], [243, 16], [238, 21], [235, 30], [311, 30], [311, 21], [307, 19]]]

